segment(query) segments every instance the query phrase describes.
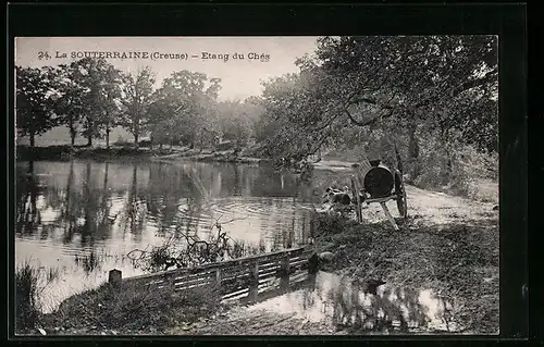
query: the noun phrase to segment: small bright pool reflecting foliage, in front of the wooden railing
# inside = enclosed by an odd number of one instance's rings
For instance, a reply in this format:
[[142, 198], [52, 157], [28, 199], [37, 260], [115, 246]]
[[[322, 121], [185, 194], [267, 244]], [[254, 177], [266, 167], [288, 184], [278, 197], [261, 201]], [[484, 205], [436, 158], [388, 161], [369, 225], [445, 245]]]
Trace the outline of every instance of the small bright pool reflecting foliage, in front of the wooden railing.
[[360, 334], [455, 333], [455, 302], [432, 289], [416, 290], [388, 284], [374, 294], [363, 290], [350, 277], [318, 272], [302, 274], [290, 290], [279, 295], [259, 294], [248, 310], [295, 314], [332, 330], [355, 330]]

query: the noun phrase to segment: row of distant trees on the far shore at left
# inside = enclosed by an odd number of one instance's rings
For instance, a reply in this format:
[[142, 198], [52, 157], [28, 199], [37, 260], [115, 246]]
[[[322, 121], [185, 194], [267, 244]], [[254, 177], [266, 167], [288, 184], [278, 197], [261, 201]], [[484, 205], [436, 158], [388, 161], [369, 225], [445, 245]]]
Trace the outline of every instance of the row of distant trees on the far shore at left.
[[183, 142], [212, 146], [223, 139], [246, 142], [259, 115], [256, 100], [219, 101], [219, 78], [174, 72], [153, 88], [146, 66], [124, 73], [104, 59], [84, 58], [41, 69], [16, 67], [16, 120], [21, 136], [35, 146], [36, 136], [65, 126], [71, 144], [78, 136], [92, 146], [123, 127], [138, 146], [143, 136], [157, 145]]

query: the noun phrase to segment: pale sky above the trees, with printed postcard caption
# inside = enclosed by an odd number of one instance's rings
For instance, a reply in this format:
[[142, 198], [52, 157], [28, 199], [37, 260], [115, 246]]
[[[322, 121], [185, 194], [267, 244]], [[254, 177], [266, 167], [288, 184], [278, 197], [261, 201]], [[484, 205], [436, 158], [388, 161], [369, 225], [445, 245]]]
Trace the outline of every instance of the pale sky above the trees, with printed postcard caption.
[[[312, 54], [316, 48], [317, 37], [311, 36], [22, 37], [15, 40], [15, 64], [33, 67], [58, 65], [83, 58], [84, 52], [98, 51], [125, 72], [151, 66], [157, 74], [157, 87], [172, 72], [188, 70], [205, 73], [209, 78], [221, 78], [219, 99], [243, 100], [261, 94], [261, 80], [297, 72], [295, 60], [306, 53]], [[45, 52], [49, 59], [45, 59]], [[140, 52], [141, 57], [131, 59], [133, 52]], [[143, 58], [144, 52], [147, 58]], [[123, 53], [128, 58], [122, 59]], [[159, 53], [177, 57], [165, 59], [158, 57]], [[205, 53], [209, 59], [203, 59]], [[234, 59], [235, 53], [244, 54], [244, 59]], [[228, 54], [228, 59], [219, 59], [219, 54]]]

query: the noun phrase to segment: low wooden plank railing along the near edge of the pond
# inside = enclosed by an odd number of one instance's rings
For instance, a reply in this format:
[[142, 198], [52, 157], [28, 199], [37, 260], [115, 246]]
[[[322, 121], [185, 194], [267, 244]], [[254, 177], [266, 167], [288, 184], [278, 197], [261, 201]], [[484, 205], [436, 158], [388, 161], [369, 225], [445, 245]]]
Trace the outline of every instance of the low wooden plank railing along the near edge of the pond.
[[[281, 280], [284, 286], [289, 275], [308, 269], [312, 247], [298, 247], [275, 252], [238, 258], [200, 267], [175, 269], [140, 276], [122, 278], [121, 271], [110, 271], [110, 283], [137, 288], [160, 289], [172, 287], [174, 290], [213, 286], [222, 294], [249, 290], [255, 294], [263, 286]], [[311, 269], [308, 269], [311, 271]]]

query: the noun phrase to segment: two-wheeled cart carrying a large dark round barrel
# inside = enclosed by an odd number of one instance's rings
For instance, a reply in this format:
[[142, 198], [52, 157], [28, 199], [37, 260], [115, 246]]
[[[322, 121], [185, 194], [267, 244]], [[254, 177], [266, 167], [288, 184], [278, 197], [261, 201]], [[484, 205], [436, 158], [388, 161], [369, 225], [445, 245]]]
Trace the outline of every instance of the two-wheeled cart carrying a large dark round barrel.
[[[370, 169], [363, 172], [358, 165], [357, 176], [351, 176], [351, 189], [355, 197], [356, 214], [359, 223], [362, 221], [361, 205], [379, 202], [393, 224], [395, 230], [398, 225], [385, 205], [390, 200], [396, 200], [398, 213], [401, 218], [407, 218], [406, 188], [403, 181], [401, 165], [396, 170], [391, 170], [383, 165], [380, 160], [371, 160]], [[362, 187], [361, 187], [362, 186]]]

